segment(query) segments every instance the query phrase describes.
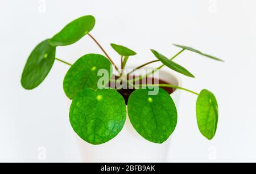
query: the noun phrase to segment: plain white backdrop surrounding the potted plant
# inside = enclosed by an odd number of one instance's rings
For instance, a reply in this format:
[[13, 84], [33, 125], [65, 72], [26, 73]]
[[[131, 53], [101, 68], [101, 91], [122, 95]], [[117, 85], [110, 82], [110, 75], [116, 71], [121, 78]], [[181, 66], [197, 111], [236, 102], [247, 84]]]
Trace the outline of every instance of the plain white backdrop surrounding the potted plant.
[[[68, 120], [70, 101], [62, 82], [68, 66], [55, 62], [43, 84], [33, 91], [20, 85], [31, 50], [82, 15], [94, 15], [92, 31], [119, 62], [110, 43], [129, 46], [138, 55], [129, 61], [155, 60], [150, 49], [172, 56], [193, 46], [226, 62], [185, 52], [176, 59], [196, 79], [177, 74], [183, 86], [207, 88], [218, 99], [220, 121], [213, 141], [197, 129], [196, 96], [183, 92], [172, 141], [173, 162], [256, 162], [256, 1], [255, 0], [1, 0], [0, 5], [0, 161], [80, 162], [76, 134]], [[101, 53], [88, 36], [57, 49], [57, 57], [75, 62], [86, 53]], [[157, 63], [156, 63], [157, 65]]]

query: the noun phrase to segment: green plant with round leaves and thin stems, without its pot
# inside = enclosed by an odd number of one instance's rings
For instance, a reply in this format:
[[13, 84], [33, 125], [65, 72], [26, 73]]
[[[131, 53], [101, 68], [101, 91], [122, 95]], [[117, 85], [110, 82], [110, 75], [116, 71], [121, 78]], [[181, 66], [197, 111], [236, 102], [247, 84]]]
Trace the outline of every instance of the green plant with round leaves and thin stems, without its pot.
[[[187, 46], [175, 45], [181, 48], [181, 51], [174, 57], [167, 58], [156, 50], [151, 50], [157, 60], [144, 63], [137, 69], [126, 73], [123, 70], [129, 57], [137, 53], [125, 46], [111, 44], [121, 56], [121, 69], [119, 69], [104, 48], [90, 35], [89, 32], [94, 28], [94, 24], [93, 16], [82, 16], [69, 23], [51, 39], [36, 46], [24, 67], [22, 86], [27, 90], [38, 87], [47, 77], [55, 60], [71, 66], [63, 83], [65, 94], [72, 100], [69, 119], [73, 130], [84, 141], [93, 145], [100, 145], [113, 139], [125, 125], [127, 111], [131, 124], [143, 138], [154, 143], [165, 142], [176, 128], [177, 109], [172, 97], [163, 90], [163, 87], [185, 90], [197, 95], [196, 116], [199, 130], [208, 139], [214, 137], [218, 124], [218, 104], [212, 92], [202, 90], [200, 94], [197, 94], [197, 92], [172, 84], [137, 84], [134, 82], [150, 77], [164, 66], [187, 77], [195, 78], [187, 69], [174, 62], [174, 59], [185, 50], [213, 60], [222, 60]], [[57, 46], [71, 45], [85, 35], [91, 37], [100, 46], [106, 57], [100, 54], [86, 54], [73, 65], [56, 58]], [[163, 65], [142, 76], [128, 78], [138, 69], [154, 62], [162, 62]], [[115, 68], [116, 73], [113, 72], [112, 67]], [[106, 77], [105, 80], [102, 80], [103, 76]], [[133, 87], [133, 92], [127, 102], [121, 95], [121, 88], [109, 86], [110, 83], [120, 79], [122, 84], [129, 84]], [[149, 95], [150, 87], [160, 87], [158, 94]]]

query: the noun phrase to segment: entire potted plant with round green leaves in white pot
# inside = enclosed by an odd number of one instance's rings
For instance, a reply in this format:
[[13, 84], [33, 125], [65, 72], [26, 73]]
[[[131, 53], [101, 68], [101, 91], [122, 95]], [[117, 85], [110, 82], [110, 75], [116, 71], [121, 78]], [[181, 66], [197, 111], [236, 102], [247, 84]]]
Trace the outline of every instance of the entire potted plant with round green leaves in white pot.
[[[65, 75], [63, 88], [72, 100], [69, 112], [71, 126], [82, 139], [83, 155], [88, 161], [163, 161], [170, 143], [167, 140], [177, 124], [174, 100], [177, 101], [180, 90], [198, 96], [196, 118], [199, 130], [209, 140], [214, 137], [218, 124], [216, 97], [208, 90], [197, 93], [181, 87], [180, 80], [162, 71], [162, 67], [167, 66], [195, 78], [174, 62], [179, 54], [189, 50], [213, 60], [222, 60], [187, 46], [175, 45], [181, 50], [174, 57], [169, 59], [152, 49], [156, 60], [127, 71], [129, 57], [137, 53], [125, 46], [111, 44], [121, 57], [119, 68], [90, 35], [94, 24], [93, 16], [82, 16], [36, 46], [28, 57], [21, 79], [22, 86], [32, 90], [47, 77], [55, 61], [71, 66]], [[100, 46], [105, 56], [86, 54], [73, 64], [56, 58], [57, 46], [74, 44], [85, 35]], [[162, 62], [163, 65], [146, 74], [134, 75], [154, 62]], [[154, 77], [155, 74], [159, 77]]]

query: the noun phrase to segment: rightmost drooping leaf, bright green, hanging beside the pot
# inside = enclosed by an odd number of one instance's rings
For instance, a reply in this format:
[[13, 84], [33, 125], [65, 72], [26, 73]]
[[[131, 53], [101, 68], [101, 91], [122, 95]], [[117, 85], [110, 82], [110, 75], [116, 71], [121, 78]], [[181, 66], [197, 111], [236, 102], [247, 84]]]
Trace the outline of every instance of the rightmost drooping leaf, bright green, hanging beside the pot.
[[196, 102], [197, 124], [204, 137], [213, 139], [218, 125], [218, 103], [212, 92], [203, 90]]

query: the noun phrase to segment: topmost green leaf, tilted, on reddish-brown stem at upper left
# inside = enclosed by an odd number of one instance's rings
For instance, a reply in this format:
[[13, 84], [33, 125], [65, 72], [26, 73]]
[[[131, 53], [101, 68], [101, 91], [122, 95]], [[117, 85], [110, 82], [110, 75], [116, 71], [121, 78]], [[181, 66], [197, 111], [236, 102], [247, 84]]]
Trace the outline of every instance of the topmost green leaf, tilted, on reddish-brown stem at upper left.
[[79, 41], [87, 35], [95, 25], [93, 16], [82, 16], [79, 19], [73, 20], [65, 26], [57, 35], [53, 36], [50, 44], [53, 46], [71, 45]]

